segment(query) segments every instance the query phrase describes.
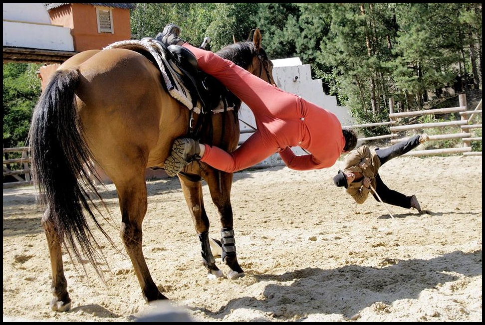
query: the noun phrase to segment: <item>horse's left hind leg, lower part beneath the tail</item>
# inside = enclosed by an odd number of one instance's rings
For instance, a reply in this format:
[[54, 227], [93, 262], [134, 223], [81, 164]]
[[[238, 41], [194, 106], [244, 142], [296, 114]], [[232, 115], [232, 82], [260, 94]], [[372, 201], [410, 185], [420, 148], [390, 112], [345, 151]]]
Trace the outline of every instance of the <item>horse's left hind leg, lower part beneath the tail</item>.
[[52, 269], [51, 291], [54, 298], [50, 301], [50, 308], [55, 312], [67, 312], [71, 309], [71, 299], [67, 293], [67, 281], [62, 264], [62, 242], [64, 234], [55, 226], [47, 206], [41, 220], [42, 228], [47, 237], [49, 247], [50, 266]]

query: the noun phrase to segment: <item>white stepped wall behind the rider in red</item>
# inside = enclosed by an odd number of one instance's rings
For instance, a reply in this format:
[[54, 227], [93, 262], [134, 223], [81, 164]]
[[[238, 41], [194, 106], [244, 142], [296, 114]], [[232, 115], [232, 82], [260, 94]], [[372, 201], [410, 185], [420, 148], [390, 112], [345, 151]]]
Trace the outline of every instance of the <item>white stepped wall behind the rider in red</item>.
[[[276, 85], [293, 94], [297, 94], [307, 101], [315, 103], [326, 110], [335, 114], [342, 126], [352, 125], [353, 120], [347, 107], [337, 106], [337, 99], [335, 96], [325, 95], [322, 88], [321, 79], [311, 79], [311, 70], [309, 64], [302, 64], [299, 58], [288, 58], [280, 60], [272, 60], [273, 62], [273, 78]], [[251, 110], [243, 103], [240, 110], [240, 120], [255, 128], [254, 115]], [[253, 131], [253, 128], [248, 127], [245, 123], [240, 121], [242, 131]], [[241, 134], [240, 142], [245, 141], [251, 133]], [[292, 150], [297, 155], [304, 155], [305, 152], [299, 148], [294, 147]], [[264, 167], [270, 165], [284, 164], [278, 154], [274, 154], [256, 167]]]

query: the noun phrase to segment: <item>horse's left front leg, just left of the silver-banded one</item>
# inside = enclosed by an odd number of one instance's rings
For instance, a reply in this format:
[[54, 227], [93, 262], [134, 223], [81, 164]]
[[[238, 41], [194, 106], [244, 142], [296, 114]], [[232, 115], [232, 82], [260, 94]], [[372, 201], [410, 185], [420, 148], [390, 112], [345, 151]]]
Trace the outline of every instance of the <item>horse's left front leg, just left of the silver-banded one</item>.
[[182, 192], [189, 207], [194, 227], [201, 242], [202, 263], [208, 270], [207, 277], [216, 279], [224, 277], [224, 273], [217, 267], [216, 259], [209, 243], [209, 218], [204, 207], [201, 177], [179, 173]]

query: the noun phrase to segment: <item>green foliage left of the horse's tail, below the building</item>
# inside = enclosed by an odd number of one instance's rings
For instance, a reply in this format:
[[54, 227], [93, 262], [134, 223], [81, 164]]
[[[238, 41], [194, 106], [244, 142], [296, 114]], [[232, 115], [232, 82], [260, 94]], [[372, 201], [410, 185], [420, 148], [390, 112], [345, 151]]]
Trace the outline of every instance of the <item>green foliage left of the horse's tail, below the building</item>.
[[3, 64], [3, 148], [27, 143], [33, 108], [40, 95], [39, 64]]

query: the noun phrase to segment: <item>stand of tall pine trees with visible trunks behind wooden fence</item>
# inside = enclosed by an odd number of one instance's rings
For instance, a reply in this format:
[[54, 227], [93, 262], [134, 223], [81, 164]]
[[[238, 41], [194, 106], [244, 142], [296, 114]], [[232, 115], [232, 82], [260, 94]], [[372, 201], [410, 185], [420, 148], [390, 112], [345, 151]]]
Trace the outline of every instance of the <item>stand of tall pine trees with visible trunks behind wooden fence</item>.
[[[351, 107], [357, 123], [379, 121], [390, 98], [399, 112], [422, 109], [436, 89], [472, 71], [472, 62], [480, 66], [482, 12], [477, 4], [298, 6], [298, 56], [341, 105]], [[475, 61], [467, 56], [471, 48]], [[481, 79], [481, 72], [474, 71]]]

